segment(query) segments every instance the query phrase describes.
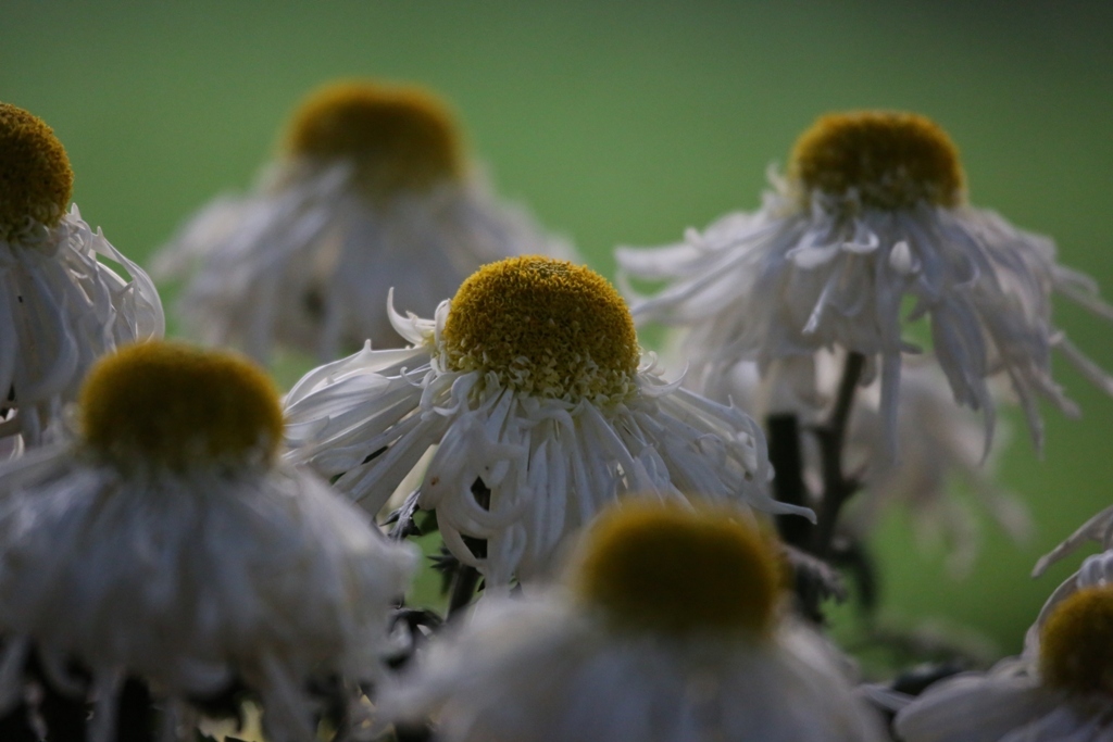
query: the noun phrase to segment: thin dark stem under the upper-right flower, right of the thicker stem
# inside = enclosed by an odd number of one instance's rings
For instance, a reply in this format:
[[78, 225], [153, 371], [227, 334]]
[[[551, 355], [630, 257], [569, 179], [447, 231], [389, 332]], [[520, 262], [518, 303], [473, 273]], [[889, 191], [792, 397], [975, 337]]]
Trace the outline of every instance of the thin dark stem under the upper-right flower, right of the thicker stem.
[[838, 385], [838, 396], [835, 398], [835, 407], [827, 422], [814, 431], [819, 442], [824, 497], [819, 505], [810, 551], [824, 560], [830, 556], [835, 525], [838, 523], [843, 505], [858, 491], [860, 484], [856, 477], [848, 477], [843, 471], [843, 445], [846, 442], [846, 428], [850, 422], [854, 395], [865, 365], [866, 357], [860, 353], [851, 353], [846, 357], [846, 364], [843, 366], [843, 379]]

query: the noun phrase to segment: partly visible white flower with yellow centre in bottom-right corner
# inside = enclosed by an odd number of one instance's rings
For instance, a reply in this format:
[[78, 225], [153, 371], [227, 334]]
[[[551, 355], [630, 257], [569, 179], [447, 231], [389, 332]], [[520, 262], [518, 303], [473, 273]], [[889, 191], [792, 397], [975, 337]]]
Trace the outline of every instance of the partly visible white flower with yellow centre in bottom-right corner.
[[1113, 585], [1057, 601], [1021, 657], [933, 685], [895, 724], [905, 742], [1113, 739]]

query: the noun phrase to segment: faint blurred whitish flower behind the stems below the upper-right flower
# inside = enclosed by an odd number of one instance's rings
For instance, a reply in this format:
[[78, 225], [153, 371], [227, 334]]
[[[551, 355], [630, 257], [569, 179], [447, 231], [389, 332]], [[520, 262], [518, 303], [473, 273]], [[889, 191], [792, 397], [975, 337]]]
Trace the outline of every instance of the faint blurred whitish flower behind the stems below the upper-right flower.
[[[797, 417], [804, 433], [804, 481], [812, 493], [823, 488], [821, 453], [809, 427], [821, 425], [839, 384], [843, 354], [818, 353], [814, 375], [800, 396], [795, 379], [761, 379], [757, 364], [741, 362], [710, 385], [717, 402], [732, 399], [755, 415]], [[889, 442], [880, 413], [880, 389], [875, 380], [859, 390], [844, 444], [843, 462], [860, 473], [861, 491], [847, 506], [840, 530], [867, 536], [892, 507], [907, 512], [924, 544], [944, 541], [947, 562], [965, 572], [977, 554], [981, 506], [1016, 542], [1032, 535], [1027, 508], [994, 481], [994, 453], [982, 455], [983, 429], [977, 416], [951, 404], [946, 379], [933, 365], [905, 364], [900, 379], [896, 445], [899, 458], [888, 456]], [[998, 433], [998, 438], [1001, 437]], [[812, 507], [817, 503], [809, 503]]]

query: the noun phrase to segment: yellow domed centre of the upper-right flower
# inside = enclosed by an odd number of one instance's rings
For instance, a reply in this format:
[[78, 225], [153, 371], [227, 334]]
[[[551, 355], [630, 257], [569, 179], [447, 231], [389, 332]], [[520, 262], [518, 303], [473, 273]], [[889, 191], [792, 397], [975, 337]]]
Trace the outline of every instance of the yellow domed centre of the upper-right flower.
[[886, 210], [956, 206], [963, 169], [947, 133], [915, 113], [860, 111], [821, 117], [797, 140], [789, 175], [843, 206]]

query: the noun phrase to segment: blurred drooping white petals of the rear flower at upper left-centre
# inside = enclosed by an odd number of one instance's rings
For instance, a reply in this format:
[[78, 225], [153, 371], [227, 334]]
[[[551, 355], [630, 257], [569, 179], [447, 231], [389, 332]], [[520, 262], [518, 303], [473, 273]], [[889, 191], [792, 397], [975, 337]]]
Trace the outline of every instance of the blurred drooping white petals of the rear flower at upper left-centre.
[[292, 160], [203, 209], [154, 273], [189, 279], [178, 311], [207, 344], [259, 360], [276, 344], [332, 360], [367, 338], [400, 345], [383, 309], [392, 287], [427, 316], [484, 263], [565, 253], [479, 176], [372, 200], [351, 164]]

